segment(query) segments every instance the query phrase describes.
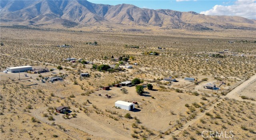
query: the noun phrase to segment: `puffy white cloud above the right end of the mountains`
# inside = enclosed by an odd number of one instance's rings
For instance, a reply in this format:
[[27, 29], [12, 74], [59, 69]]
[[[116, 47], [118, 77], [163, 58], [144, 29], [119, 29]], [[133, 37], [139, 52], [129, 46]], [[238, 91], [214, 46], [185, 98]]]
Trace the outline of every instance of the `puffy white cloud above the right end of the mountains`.
[[256, 19], [256, 0], [237, 0], [233, 5], [215, 5], [212, 9], [200, 12], [205, 15], [242, 16]]

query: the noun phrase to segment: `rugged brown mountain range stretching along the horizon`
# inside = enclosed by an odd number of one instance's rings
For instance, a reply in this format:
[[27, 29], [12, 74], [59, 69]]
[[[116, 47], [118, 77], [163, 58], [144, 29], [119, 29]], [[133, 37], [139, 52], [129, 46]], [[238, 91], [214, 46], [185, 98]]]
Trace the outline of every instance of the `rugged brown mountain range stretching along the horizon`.
[[239, 16], [206, 16], [196, 12], [139, 8], [131, 4], [94, 4], [86, 0], [1, 0], [0, 22], [6, 24], [102, 25], [114, 23], [162, 28], [231, 28], [256, 30], [256, 20]]

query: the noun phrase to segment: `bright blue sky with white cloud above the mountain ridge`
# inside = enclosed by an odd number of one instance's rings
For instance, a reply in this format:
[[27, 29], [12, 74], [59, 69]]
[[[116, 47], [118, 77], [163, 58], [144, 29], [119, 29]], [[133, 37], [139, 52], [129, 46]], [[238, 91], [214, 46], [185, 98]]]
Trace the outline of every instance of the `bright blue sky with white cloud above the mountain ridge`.
[[96, 4], [133, 4], [140, 8], [194, 11], [206, 15], [256, 19], [256, 0], [88, 0]]

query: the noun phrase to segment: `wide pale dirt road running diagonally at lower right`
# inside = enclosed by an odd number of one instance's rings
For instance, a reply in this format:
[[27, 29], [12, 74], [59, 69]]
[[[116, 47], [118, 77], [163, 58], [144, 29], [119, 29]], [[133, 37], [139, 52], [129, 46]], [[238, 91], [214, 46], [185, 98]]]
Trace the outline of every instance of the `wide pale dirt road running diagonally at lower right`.
[[[226, 96], [221, 96], [221, 98], [225, 98], [225, 97], [228, 97], [228, 98], [234, 98], [236, 100], [240, 100], [240, 101], [244, 101], [241, 97], [239, 97], [238, 93], [243, 90], [244, 88], [246, 88], [247, 86], [250, 86], [250, 84], [252, 82], [254, 82], [256, 80], [256, 74], [254, 76], [252, 76], [251, 78], [249, 78], [248, 80], [244, 81], [242, 84], [240, 84], [239, 86], [237, 86], [236, 88], [234, 88], [231, 92], [229, 92]], [[252, 93], [252, 94], [256, 94], [256, 93]], [[253, 102], [253, 103], [256, 103], [256, 101], [252, 101], [252, 100], [246, 100], [246, 101], [249, 101], [249, 102]], [[200, 112], [195, 119], [187, 122], [186, 124], [183, 124], [183, 127], [182, 129], [179, 129], [179, 130], [176, 130], [174, 132], [172, 132], [170, 135], [164, 135], [164, 139], [168, 139], [170, 140], [172, 138], [172, 135], [177, 135], [179, 134], [180, 132], [182, 132], [183, 130], [186, 130], [189, 126], [191, 126], [192, 124], [196, 123], [198, 120], [200, 120], [205, 114], [206, 112], [210, 112], [214, 106], [216, 106], [218, 103], [220, 102], [216, 102], [214, 104], [212, 104], [209, 108], [207, 108], [204, 112]], [[156, 140], [159, 140], [159, 139], [163, 139], [163, 138], [160, 138], [160, 137], [156, 137], [154, 138]]]

